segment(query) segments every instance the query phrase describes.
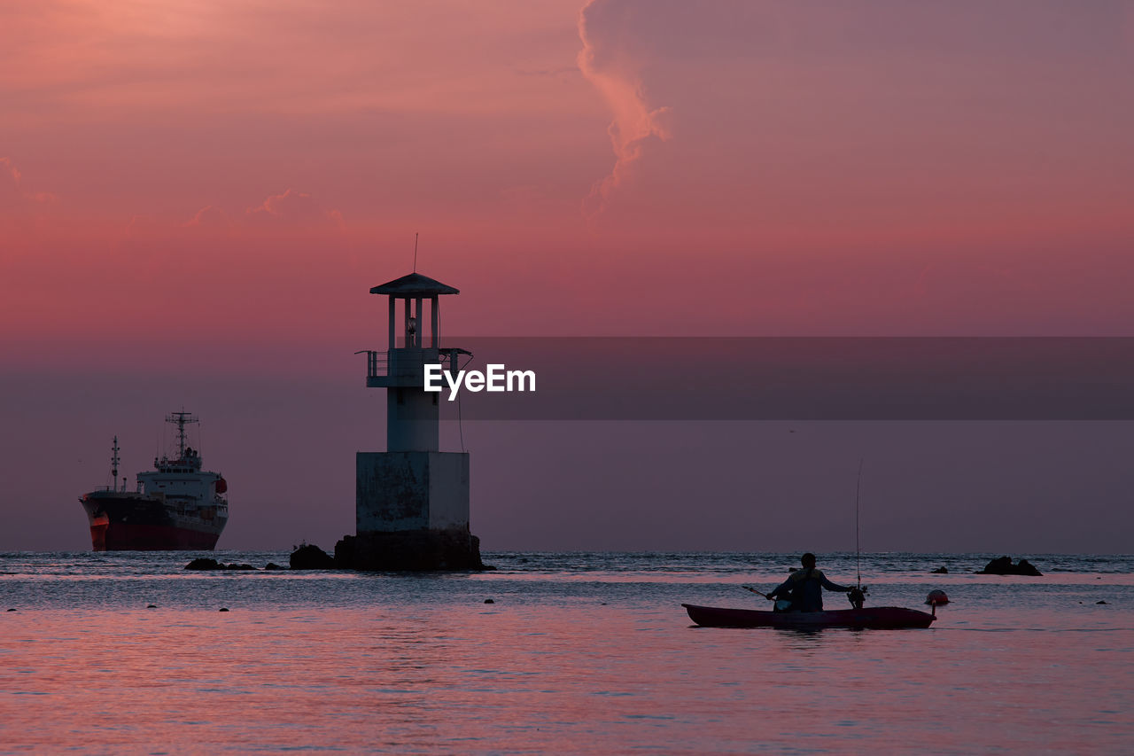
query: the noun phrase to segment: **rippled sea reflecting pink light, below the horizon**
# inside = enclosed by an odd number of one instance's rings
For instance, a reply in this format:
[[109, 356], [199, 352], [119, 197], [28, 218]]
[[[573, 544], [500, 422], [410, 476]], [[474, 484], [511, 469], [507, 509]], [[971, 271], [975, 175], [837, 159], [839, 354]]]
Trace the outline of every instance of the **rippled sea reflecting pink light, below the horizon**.
[[794, 554], [198, 555], [0, 554], [0, 753], [1134, 753], [1134, 555], [1027, 554], [1024, 578], [974, 574], [997, 554], [823, 554], [868, 606], [950, 603], [929, 630], [810, 632], [682, 608], [768, 608], [743, 586]]

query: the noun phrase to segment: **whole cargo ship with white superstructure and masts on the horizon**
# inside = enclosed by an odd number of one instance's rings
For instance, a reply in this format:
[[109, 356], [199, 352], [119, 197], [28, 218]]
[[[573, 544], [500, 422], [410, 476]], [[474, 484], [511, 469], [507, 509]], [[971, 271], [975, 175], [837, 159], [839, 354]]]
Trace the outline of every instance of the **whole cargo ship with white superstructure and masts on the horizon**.
[[198, 422], [172, 412], [177, 454], [154, 457], [153, 470], [137, 473], [134, 490], [118, 481], [118, 436], [110, 459], [112, 484], [79, 497], [96, 552], [212, 551], [228, 523], [228, 484], [201, 469], [201, 453], [186, 445], [185, 426]]

